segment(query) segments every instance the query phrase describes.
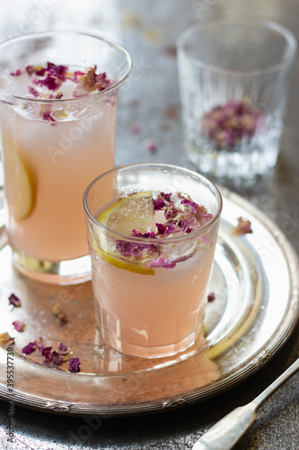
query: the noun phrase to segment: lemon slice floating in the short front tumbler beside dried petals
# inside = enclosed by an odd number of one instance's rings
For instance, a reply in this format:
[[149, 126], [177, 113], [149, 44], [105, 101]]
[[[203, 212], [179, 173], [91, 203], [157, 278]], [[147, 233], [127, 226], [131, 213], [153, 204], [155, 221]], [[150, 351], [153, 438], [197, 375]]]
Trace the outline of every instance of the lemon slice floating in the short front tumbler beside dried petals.
[[[137, 229], [141, 233], [148, 231], [153, 222], [153, 217], [153, 193], [148, 191], [145, 193], [132, 193], [128, 197], [124, 197], [106, 211], [103, 211], [98, 220], [109, 229], [130, 236], [132, 229]], [[154, 269], [152, 268], [138, 266], [136, 262], [130, 260], [127, 262], [124, 259], [119, 259], [119, 253], [111, 249], [112, 246], [104, 233], [101, 233], [100, 244], [101, 248], [93, 243], [92, 247], [102, 259], [112, 266], [135, 272], [136, 274], [154, 275]], [[112, 255], [115, 255], [115, 257]]]

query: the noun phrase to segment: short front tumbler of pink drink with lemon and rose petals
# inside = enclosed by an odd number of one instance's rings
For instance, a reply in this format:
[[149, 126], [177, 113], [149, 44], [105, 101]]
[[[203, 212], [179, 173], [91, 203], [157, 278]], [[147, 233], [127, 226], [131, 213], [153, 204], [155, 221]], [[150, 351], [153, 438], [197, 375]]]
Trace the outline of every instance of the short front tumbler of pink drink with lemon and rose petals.
[[101, 336], [119, 352], [173, 356], [201, 336], [221, 194], [167, 164], [100, 175], [84, 193]]

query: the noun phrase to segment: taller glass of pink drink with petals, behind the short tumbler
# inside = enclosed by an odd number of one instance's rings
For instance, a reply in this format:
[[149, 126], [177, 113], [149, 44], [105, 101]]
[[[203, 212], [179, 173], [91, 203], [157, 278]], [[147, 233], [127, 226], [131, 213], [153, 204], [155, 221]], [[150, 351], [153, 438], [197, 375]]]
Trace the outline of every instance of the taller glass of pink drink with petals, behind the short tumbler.
[[47, 283], [90, 278], [82, 197], [114, 166], [128, 52], [73, 31], [0, 45], [0, 120], [13, 262]]

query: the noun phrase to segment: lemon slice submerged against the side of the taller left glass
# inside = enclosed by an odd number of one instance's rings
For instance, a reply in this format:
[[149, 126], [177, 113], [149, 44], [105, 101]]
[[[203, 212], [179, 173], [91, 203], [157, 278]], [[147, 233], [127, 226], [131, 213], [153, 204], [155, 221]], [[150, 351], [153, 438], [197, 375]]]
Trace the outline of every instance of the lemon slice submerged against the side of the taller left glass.
[[13, 139], [2, 130], [5, 195], [14, 220], [22, 220], [34, 207], [33, 177], [18, 155]]

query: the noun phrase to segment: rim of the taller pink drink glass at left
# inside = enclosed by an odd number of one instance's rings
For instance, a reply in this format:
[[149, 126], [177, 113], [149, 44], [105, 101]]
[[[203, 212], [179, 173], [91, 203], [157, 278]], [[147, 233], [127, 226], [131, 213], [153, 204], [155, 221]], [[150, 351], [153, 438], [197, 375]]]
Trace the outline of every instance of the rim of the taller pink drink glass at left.
[[123, 85], [123, 83], [128, 78], [129, 74], [131, 73], [132, 67], [133, 67], [133, 61], [126, 49], [124, 49], [121, 45], [117, 44], [113, 40], [107, 39], [104, 36], [101, 36], [100, 34], [92, 34], [92, 33], [88, 33], [85, 31], [53, 30], [53, 31], [39, 31], [39, 32], [30, 33], [30, 34], [23, 34], [22, 36], [16, 36], [15, 38], [10, 38], [10, 39], [7, 39], [7, 40], [4, 40], [3, 42], [1, 42], [0, 43], [0, 51], [5, 46], [8, 46], [9, 44], [20, 41], [20, 40], [28, 40], [28, 39], [32, 39], [32, 38], [43, 38], [43, 37], [55, 36], [55, 35], [59, 35], [59, 34], [69, 34], [69, 35], [76, 34], [78, 36], [85, 36], [87, 38], [101, 40], [101, 42], [105, 42], [110, 47], [113, 47], [114, 49], [119, 50], [119, 53], [121, 53], [124, 56], [124, 58], [127, 60], [127, 63], [128, 63], [128, 70], [126, 72], [126, 75], [123, 76], [117, 83], [111, 85], [110, 87], [107, 87], [103, 91], [82, 95], [80, 97], [39, 99], [39, 98], [34, 98], [34, 97], [31, 98], [31, 97], [26, 97], [23, 95], [12, 94], [12, 93], [5, 91], [2, 88], [0, 88], [0, 94], [3, 94], [6, 98], [12, 98], [15, 100], [21, 100], [23, 102], [32, 102], [32, 103], [38, 103], [38, 104], [39, 103], [52, 103], [53, 104], [53, 103], [84, 102], [87, 99], [90, 100], [91, 98], [96, 98], [99, 96], [101, 97], [105, 94], [110, 94], [111, 92], [119, 89], [120, 85]]

